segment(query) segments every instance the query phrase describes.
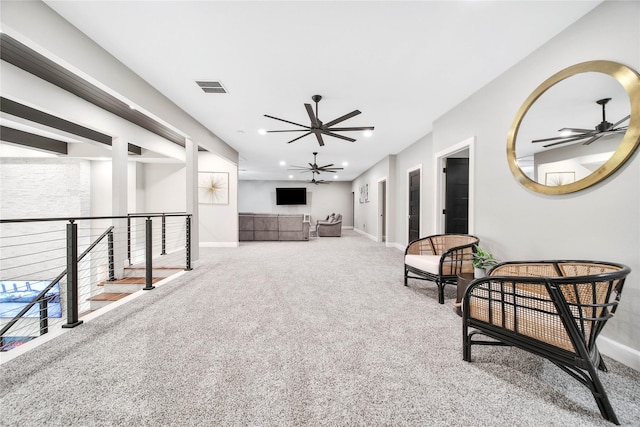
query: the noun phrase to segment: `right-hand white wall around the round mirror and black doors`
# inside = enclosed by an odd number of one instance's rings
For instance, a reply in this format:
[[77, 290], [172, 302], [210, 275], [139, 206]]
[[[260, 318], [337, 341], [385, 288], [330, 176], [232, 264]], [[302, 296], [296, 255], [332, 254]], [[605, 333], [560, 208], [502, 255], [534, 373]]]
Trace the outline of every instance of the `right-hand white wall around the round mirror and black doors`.
[[[406, 169], [423, 165], [422, 211], [434, 200], [433, 153], [475, 137], [474, 234], [500, 260], [586, 259], [627, 264], [616, 317], [601, 351], [640, 370], [640, 154], [604, 182], [560, 196], [533, 193], [512, 176], [506, 158], [511, 122], [527, 96], [570, 65], [602, 59], [640, 70], [640, 2], [604, 2], [548, 44], [440, 117], [433, 133], [396, 156], [396, 242], [406, 245]], [[425, 52], [428, 54], [428, 52]], [[418, 160], [419, 159], [419, 160]], [[356, 181], [370, 179], [376, 167]], [[378, 172], [379, 174], [379, 172]], [[433, 180], [432, 180], [433, 181]], [[370, 213], [357, 211], [359, 220]], [[357, 220], [357, 221], [359, 221]], [[422, 235], [433, 233], [423, 218]], [[358, 225], [358, 223], [356, 224]]]

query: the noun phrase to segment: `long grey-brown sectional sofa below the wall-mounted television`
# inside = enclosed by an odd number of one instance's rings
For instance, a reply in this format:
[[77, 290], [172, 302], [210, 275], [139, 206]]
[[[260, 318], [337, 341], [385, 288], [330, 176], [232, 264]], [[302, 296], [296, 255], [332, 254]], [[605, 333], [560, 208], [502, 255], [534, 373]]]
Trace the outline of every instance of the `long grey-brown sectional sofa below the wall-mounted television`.
[[240, 241], [309, 240], [309, 222], [303, 214], [240, 213]]

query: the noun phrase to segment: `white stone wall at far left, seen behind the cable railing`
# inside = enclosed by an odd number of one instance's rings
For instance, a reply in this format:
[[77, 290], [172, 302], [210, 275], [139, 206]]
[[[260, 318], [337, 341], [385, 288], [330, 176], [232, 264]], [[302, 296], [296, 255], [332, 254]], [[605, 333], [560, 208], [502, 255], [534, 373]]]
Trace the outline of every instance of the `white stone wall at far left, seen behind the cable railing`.
[[[0, 218], [90, 216], [90, 168], [86, 160], [0, 159]], [[66, 224], [66, 221], [2, 224], [0, 280], [52, 280], [57, 276], [66, 267]], [[79, 238], [78, 243], [86, 246], [88, 238]], [[64, 280], [60, 285], [64, 313]], [[7, 320], [2, 319], [0, 325]], [[24, 319], [20, 323], [19, 335], [38, 335], [37, 319]]]

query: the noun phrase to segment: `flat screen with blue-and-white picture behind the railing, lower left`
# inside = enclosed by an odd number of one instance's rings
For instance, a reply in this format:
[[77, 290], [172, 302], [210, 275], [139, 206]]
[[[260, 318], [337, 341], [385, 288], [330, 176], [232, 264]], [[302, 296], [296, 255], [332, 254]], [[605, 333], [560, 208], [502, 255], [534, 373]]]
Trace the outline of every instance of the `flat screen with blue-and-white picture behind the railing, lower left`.
[[[2, 280], [0, 281], [0, 318], [13, 318], [28, 303], [33, 301], [51, 281], [49, 280]], [[56, 283], [45, 298], [48, 299], [48, 317], [62, 317], [60, 307], [60, 285]], [[36, 303], [25, 317], [40, 317], [40, 304]]]

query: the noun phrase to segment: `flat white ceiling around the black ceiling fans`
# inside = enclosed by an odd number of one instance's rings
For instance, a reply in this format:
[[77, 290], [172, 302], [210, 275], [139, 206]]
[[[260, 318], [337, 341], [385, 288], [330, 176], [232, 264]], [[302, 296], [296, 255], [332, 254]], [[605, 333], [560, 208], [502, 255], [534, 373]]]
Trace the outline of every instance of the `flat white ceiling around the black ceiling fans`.
[[[318, 151], [320, 165], [348, 162], [339, 180], [350, 181], [600, 1], [46, 3], [235, 148], [240, 179], [286, 180], [280, 161], [305, 165]], [[308, 125], [314, 94], [323, 122], [359, 109], [341, 125], [375, 126], [373, 136], [319, 147], [313, 135], [258, 134], [295, 129], [264, 114]]]

